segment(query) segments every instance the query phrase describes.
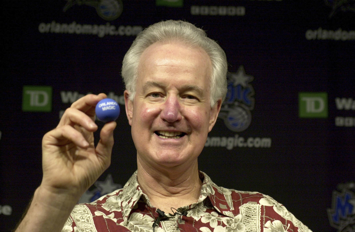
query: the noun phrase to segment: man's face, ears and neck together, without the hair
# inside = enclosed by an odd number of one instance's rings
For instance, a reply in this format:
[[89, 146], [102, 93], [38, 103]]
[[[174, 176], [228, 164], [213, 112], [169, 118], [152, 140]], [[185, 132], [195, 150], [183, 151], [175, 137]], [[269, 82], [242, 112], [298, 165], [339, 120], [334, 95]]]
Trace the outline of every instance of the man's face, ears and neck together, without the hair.
[[211, 108], [211, 70], [202, 48], [157, 42], [140, 58], [133, 101], [125, 91], [137, 179], [152, 205], [163, 211], [197, 202], [200, 195], [197, 157], [222, 102]]

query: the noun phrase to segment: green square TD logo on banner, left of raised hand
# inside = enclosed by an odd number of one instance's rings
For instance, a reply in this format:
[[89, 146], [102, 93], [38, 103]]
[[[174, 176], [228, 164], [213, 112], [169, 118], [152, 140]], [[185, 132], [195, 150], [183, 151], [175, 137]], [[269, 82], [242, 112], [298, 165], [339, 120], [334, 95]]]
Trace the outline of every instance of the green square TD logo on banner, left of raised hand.
[[51, 86], [23, 86], [22, 111], [50, 112], [51, 110]]

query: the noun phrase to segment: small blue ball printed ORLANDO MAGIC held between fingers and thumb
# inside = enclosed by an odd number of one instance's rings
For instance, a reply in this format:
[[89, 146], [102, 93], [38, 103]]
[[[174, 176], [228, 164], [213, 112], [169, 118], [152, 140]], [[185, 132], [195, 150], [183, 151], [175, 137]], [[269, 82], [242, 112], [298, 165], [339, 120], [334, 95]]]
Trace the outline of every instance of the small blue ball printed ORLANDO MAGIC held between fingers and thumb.
[[95, 113], [97, 118], [102, 122], [115, 121], [120, 115], [120, 106], [115, 100], [105, 98], [97, 103]]

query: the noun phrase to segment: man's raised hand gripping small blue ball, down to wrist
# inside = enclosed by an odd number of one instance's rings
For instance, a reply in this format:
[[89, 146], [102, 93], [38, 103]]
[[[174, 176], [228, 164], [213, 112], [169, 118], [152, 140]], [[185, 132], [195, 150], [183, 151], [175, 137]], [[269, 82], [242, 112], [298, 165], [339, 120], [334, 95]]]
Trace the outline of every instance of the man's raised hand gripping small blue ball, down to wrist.
[[108, 168], [116, 123], [104, 125], [96, 147], [93, 136], [98, 129], [95, 105], [105, 97], [89, 94], [80, 98], [65, 111], [58, 126], [44, 135], [41, 187], [80, 198]]

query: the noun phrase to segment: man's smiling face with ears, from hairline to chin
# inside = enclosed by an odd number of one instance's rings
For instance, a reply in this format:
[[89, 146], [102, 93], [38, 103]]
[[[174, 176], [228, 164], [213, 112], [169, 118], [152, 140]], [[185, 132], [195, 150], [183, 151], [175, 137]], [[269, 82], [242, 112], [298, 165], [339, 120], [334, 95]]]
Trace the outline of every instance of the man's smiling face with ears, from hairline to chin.
[[211, 109], [210, 75], [201, 48], [154, 43], [143, 52], [133, 102], [125, 91], [138, 162], [153, 168], [197, 164], [220, 109], [220, 102]]

